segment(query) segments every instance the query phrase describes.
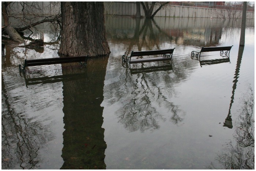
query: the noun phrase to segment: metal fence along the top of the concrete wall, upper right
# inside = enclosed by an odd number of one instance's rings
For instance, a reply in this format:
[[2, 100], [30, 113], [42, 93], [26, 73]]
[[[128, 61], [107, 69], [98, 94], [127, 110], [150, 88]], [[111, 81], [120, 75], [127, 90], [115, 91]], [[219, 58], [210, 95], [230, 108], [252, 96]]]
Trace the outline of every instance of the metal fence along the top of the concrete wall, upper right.
[[[242, 11], [243, 2], [227, 3], [221, 1], [209, 2], [170, 2], [169, 5], [177, 5], [182, 7], [197, 7], [197, 8], [211, 8], [211, 9], [225, 9], [233, 11]], [[247, 4], [247, 11], [254, 12], [254, 4]]]

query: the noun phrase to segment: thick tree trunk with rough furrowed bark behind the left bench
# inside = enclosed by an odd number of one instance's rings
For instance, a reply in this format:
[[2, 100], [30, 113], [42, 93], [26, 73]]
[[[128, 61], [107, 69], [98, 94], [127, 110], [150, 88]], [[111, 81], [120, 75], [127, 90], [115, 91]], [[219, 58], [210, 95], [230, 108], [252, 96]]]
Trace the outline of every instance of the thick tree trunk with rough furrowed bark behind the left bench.
[[101, 56], [110, 53], [103, 2], [61, 2], [60, 55]]

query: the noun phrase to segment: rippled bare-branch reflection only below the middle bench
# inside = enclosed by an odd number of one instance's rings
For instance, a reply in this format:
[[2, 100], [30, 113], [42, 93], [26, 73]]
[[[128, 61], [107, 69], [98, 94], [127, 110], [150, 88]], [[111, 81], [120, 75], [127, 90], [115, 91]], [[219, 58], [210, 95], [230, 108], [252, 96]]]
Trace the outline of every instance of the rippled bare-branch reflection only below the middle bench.
[[166, 121], [162, 110], [172, 113], [170, 121], [174, 124], [183, 120], [184, 113], [168, 100], [168, 88], [159, 87], [152, 77], [154, 78], [153, 75], [145, 73], [137, 74], [136, 83], [129, 95], [131, 101], [116, 112], [119, 122], [131, 132], [158, 129], [158, 120]]

